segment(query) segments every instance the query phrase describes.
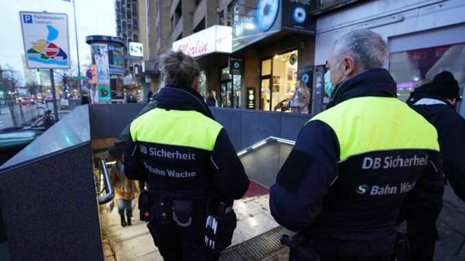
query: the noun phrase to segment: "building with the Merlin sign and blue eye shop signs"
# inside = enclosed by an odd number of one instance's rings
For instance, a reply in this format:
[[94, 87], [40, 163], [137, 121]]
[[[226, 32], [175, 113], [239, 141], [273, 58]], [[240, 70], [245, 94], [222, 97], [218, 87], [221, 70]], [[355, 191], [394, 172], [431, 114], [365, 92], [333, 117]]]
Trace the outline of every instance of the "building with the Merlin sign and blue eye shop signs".
[[298, 79], [313, 90], [313, 12], [350, 1], [147, 0], [151, 88], [163, 86], [160, 55], [181, 49], [201, 69], [200, 93], [213, 91], [225, 108], [289, 111]]

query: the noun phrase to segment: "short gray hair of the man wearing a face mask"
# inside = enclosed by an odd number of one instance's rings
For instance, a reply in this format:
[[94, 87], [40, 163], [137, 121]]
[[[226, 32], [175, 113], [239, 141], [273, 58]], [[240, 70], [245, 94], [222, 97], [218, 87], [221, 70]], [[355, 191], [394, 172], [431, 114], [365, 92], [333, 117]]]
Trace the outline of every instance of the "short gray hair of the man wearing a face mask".
[[379, 34], [368, 29], [352, 31], [336, 40], [333, 54], [339, 62], [349, 55], [354, 59], [355, 66], [362, 71], [384, 68], [386, 59], [386, 42]]

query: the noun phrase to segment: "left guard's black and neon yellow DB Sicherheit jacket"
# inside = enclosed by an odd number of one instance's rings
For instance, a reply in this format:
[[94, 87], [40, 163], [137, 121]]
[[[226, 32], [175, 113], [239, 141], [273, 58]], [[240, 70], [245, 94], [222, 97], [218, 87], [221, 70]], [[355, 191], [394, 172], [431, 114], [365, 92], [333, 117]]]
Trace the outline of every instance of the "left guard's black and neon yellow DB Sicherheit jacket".
[[[154, 197], [204, 200], [221, 193], [240, 199], [248, 177], [202, 96], [192, 88], [167, 86], [156, 103], [131, 123], [124, 162], [128, 179], [147, 180]], [[198, 140], [210, 140], [210, 147], [195, 146]]]

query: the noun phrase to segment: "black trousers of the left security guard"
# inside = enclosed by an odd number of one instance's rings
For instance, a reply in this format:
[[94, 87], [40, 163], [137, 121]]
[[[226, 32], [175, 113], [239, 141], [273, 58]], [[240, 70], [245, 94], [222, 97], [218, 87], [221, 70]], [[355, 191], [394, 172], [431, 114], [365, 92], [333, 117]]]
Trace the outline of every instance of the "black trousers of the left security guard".
[[203, 245], [205, 222], [206, 206], [194, 205], [189, 227], [180, 227], [174, 222], [160, 224], [151, 221], [150, 234], [165, 261], [216, 261], [219, 255], [213, 255]]

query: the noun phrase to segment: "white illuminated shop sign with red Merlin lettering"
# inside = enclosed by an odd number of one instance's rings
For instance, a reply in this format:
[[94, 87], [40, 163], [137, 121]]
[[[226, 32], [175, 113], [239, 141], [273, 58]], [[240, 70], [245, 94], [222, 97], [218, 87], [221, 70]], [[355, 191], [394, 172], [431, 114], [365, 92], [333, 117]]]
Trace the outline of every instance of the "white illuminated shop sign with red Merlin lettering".
[[232, 29], [228, 26], [213, 25], [200, 32], [173, 42], [174, 51], [181, 50], [187, 55], [198, 57], [208, 53], [231, 53]]

